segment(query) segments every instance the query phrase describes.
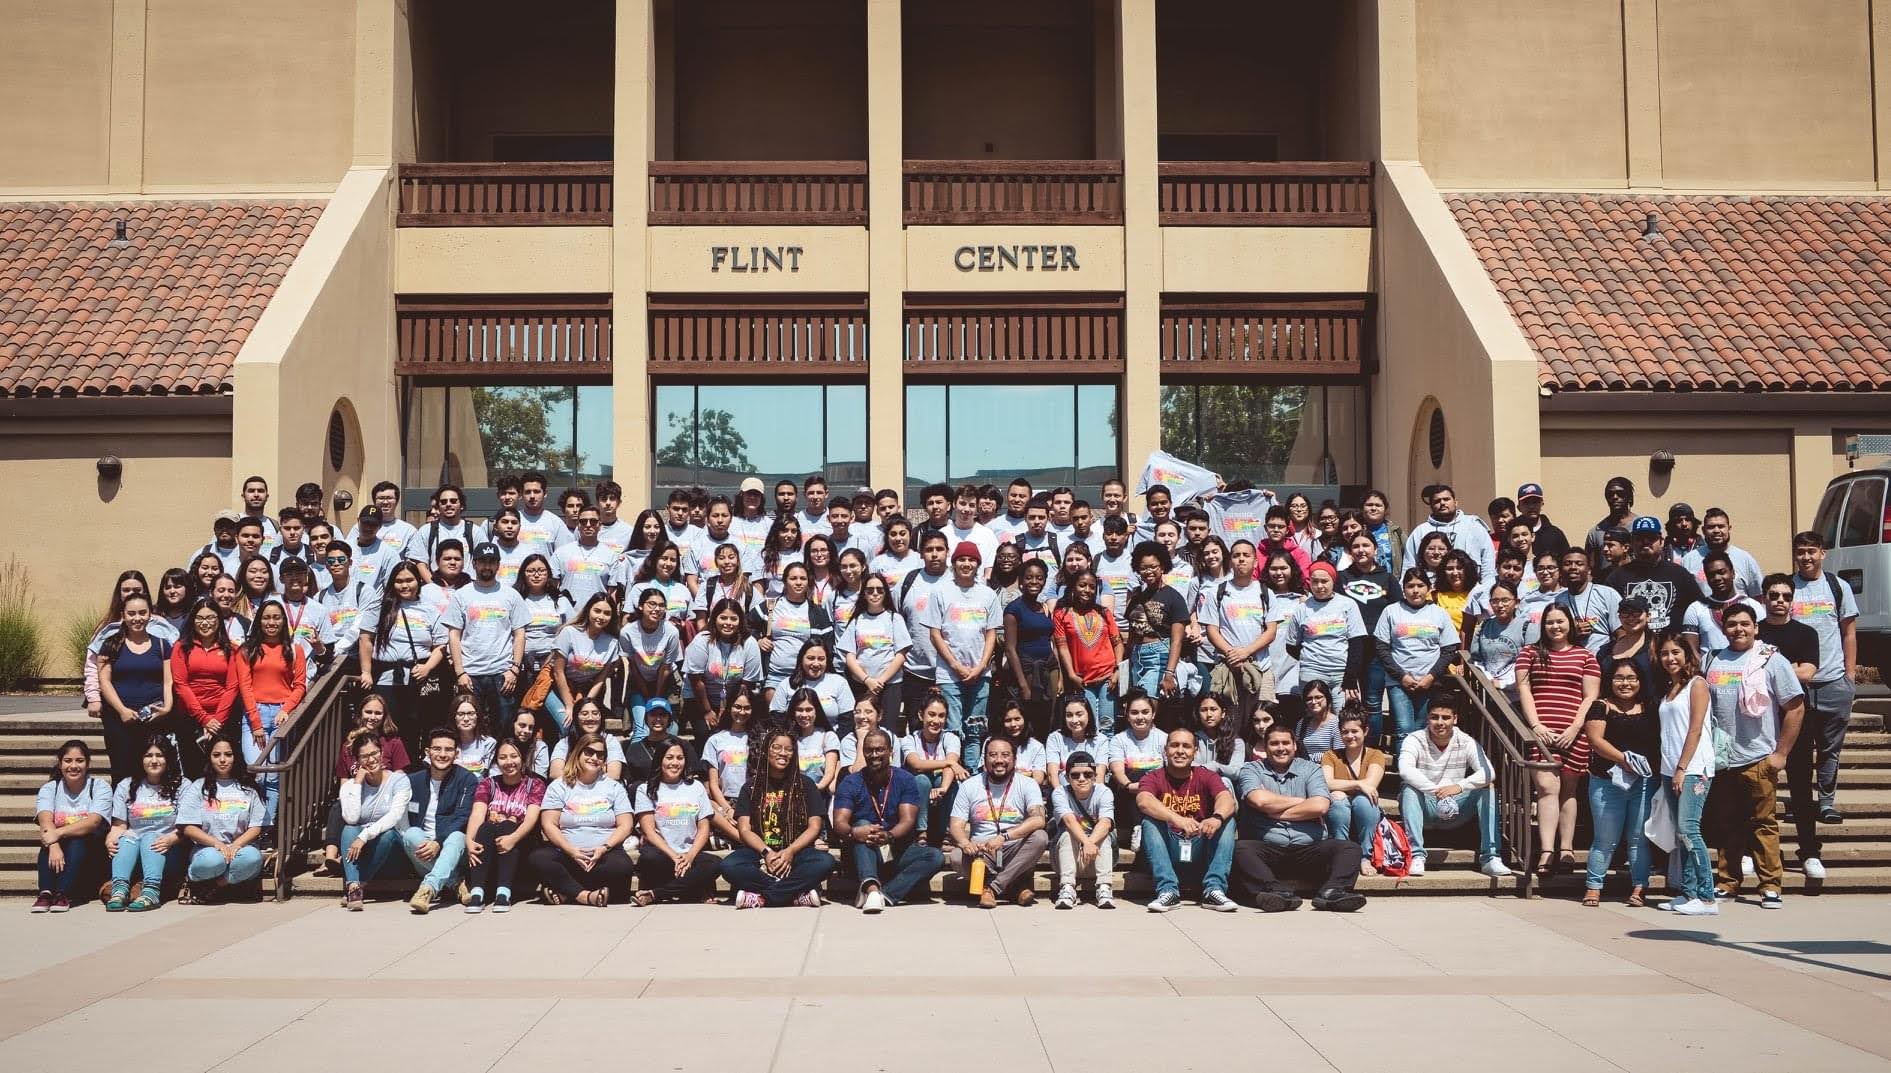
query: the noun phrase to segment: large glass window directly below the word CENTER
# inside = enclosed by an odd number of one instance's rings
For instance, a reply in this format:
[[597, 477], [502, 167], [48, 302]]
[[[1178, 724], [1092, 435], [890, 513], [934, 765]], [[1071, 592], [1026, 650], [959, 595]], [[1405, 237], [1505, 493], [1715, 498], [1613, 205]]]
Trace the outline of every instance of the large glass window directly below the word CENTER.
[[910, 384], [906, 501], [934, 481], [1068, 484], [1095, 503], [1116, 477], [1116, 384]]

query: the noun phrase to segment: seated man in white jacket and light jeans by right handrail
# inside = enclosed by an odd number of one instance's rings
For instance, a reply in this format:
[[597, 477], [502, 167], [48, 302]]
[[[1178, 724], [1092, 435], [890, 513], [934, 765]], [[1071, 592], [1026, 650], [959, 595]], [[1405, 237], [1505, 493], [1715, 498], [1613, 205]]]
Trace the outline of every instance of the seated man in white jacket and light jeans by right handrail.
[[1477, 818], [1477, 871], [1509, 876], [1498, 840], [1498, 791], [1490, 785], [1490, 757], [1458, 729], [1462, 693], [1431, 698], [1424, 734], [1407, 734], [1399, 748], [1399, 819], [1413, 840], [1411, 876], [1424, 874], [1424, 829], [1460, 827]]

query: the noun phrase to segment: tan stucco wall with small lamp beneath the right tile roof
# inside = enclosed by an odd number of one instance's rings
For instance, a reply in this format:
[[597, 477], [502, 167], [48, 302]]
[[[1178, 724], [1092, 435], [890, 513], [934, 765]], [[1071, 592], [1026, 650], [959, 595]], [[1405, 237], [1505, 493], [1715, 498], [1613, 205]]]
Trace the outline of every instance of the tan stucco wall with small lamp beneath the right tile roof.
[[[1660, 422], [1602, 416], [1543, 416], [1543, 488], [1547, 511], [1570, 539], [1587, 532], [1605, 513], [1602, 486], [1609, 477], [1636, 483], [1636, 511], [1668, 520], [1668, 507], [1689, 503], [1694, 513], [1721, 507], [1734, 519], [1734, 543], [1753, 553], [1761, 566], [1791, 570], [1789, 541], [1812, 520], [1819, 492], [1832, 473], [1812, 471], [1812, 507], [1781, 494], [1795, 486], [1793, 428], [1751, 428], [1736, 418], [1687, 418], [1662, 414]], [[1672, 450], [1674, 471], [1658, 479], [1649, 454]], [[1795, 496], [1787, 496], [1793, 500]]]

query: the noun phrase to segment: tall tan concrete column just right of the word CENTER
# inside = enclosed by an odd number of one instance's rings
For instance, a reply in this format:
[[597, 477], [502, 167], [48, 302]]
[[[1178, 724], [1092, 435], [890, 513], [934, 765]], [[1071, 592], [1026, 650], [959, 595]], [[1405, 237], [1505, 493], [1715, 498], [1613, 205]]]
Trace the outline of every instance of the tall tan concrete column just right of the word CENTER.
[[1119, 0], [1116, 85], [1123, 115], [1121, 471], [1161, 447], [1163, 229], [1155, 212], [1155, 0]]

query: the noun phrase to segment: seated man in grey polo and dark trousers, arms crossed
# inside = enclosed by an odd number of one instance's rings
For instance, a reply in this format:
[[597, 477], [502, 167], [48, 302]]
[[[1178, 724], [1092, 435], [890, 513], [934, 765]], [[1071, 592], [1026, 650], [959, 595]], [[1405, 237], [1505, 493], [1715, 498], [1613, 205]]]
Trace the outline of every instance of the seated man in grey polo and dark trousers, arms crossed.
[[1352, 889], [1360, 844], [1326, 833], [1326, 810], [1333, 806], [1326, 768], [1295, 755], [1290, 723], [1269, 727], [1263, 748], [1267, 759], [1248, 761], [1235, 774], [1235, 888], [1261, 912], [1290, 912], [1299, 908], [1293, 882], [1312, 882], [1314, 908], [1358, 910], [1365, 905], [1365, 895]]

